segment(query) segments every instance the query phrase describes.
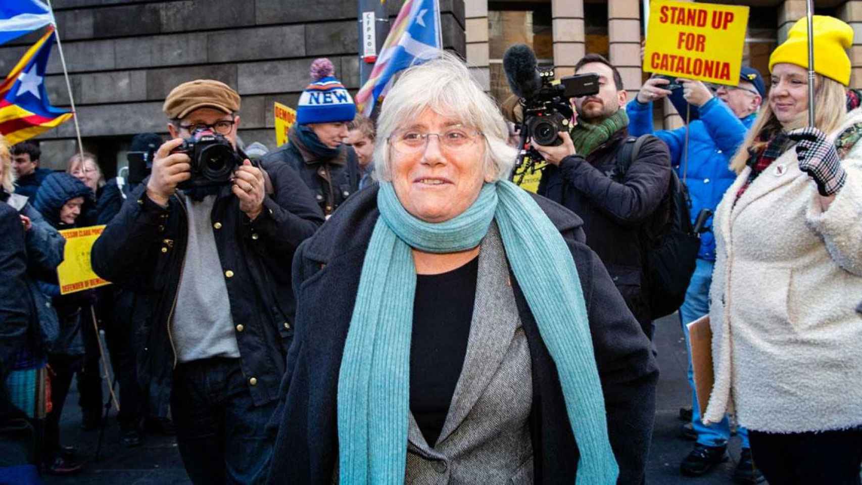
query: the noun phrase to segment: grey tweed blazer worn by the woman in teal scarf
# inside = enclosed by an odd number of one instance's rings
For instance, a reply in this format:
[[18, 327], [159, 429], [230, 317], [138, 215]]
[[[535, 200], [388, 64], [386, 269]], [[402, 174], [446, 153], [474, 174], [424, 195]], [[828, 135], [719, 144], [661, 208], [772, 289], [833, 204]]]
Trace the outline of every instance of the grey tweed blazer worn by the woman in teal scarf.
[[533, 483], [528, 418], [533, 380], [503, 242], [492, 223], [482, 241], [464, 367], [437, 443], [409, 415], [410, 484]]

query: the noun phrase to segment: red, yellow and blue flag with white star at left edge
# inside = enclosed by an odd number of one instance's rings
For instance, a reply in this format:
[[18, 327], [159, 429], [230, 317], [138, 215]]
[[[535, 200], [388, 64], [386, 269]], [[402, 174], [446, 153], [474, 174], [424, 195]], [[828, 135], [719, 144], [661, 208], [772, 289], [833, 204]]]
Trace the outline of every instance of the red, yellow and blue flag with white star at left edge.
[[0, 84], [0, 134], [15, 145], [72, 118], [54, 108], [45, 90], [45, 68], [53, 44], [53, 27], [30, 47]]

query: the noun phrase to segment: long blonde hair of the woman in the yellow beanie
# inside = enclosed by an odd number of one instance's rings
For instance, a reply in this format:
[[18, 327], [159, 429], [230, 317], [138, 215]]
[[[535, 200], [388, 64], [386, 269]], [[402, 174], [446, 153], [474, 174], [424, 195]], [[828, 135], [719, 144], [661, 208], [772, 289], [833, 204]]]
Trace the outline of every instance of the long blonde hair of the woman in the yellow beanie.
[[[815, 110], [814, 126], [825, 134], [834, 132], [844, 122], [846, 117], [846, 88], [844, 84], [840, 84], [830, 78], [815, 74], [815, 91], [814, 104], [817, 107]], [[782, 130], [788, 132], [790, 130], [805, 127], [808, 124], [808, 109], [796, 115], [796, 118], [790, 123], [782, 125], [778, 122], [778, 118], [772, 112], [771, 106], [767, 100], [763, 103], [763, 108], [760, 109], [760, 114], [754, 120], [754, 123], [746, 140], [742, 142], [739, 150], [737, 150], [734, 158], [730, 161], [730, 170], [740, 174], [748, 162], [748, 149], [753, 148], [755, 151], [764, 147], [768, 140], [764, 140], [761, 134], [770, 130]]]

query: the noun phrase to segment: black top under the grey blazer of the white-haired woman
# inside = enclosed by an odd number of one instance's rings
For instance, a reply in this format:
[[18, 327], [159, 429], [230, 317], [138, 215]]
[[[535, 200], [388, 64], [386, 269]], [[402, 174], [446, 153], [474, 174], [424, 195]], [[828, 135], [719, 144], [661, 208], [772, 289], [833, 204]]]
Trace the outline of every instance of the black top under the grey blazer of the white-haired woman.
[[418, 275], [410, 339], [410, 411], [434, 446], [461, 376], [476, 299], [479, 258], [439, 275]]

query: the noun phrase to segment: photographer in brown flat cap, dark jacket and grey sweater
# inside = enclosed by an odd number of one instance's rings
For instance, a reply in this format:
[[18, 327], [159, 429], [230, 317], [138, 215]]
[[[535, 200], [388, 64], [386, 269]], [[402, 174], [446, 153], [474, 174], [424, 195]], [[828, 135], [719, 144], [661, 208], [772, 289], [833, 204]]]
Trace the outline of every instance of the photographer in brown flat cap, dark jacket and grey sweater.
[[91, 252], [100, 277], [153, 296], [139, 380], [171, 404], [195, 483], [256, 483], [274, 436], [293, 329], [293, 252], [323, 222], [297, 172], [237, 151], [240, 96], [180, 84], [163, 110], [171, 140]]

